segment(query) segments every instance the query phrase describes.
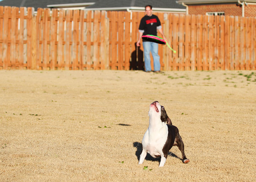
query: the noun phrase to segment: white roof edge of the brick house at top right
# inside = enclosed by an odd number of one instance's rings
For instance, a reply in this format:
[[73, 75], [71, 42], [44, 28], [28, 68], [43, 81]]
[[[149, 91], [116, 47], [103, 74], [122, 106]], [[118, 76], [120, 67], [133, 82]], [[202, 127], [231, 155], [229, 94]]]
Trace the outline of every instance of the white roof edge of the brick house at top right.
[[[240, 0], [241, 2], [256, 2], [256, 0]], [[178, 0], [176, 1], [178, 4], [214, 4], [214, 3], [230, 3], [230, 2], [238, 2], [238, 0]]]

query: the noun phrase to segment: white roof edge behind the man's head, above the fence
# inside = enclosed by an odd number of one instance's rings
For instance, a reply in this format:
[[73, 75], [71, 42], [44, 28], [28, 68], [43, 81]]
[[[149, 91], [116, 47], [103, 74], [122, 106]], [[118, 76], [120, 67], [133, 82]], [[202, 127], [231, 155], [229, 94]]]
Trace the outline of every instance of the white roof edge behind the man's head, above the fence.
[[[145, 11], [145, 7], [102, 7], [102, 8], [86, 8], [85, 10], [106, 10], [106, 11], [117, 11], [117, 10], [143, 10]], [[161, 7], [153, 7], [153, 11], [174, 11], [174, 12], [186, 12], [186, 9], [179, 8], [161, 8]]]

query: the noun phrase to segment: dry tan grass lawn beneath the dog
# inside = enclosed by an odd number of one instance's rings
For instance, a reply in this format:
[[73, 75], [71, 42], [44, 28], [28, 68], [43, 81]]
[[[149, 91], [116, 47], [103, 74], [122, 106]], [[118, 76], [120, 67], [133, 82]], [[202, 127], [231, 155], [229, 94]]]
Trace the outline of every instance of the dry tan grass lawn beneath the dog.
[[[138, 165], [155, 100], [188, 164], [173, 147]], [[256, 72], [1, 70], [0, 147], [1, 182], [253, 182]]]

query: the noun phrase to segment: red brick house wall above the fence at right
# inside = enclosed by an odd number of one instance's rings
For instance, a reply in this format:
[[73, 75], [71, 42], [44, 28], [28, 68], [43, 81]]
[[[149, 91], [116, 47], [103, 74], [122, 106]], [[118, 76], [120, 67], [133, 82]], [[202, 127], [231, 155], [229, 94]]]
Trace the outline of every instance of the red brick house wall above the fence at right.
[[[206, 12], [224, 11], [228, 16], [242, 16], [242, 7], [237, 4], [210, 4], [210, 5], [189, 5], [188, 13], [195, 15], [206, 15]], [[245, 6], [245, 16], [256, 16], [256, 5]]]

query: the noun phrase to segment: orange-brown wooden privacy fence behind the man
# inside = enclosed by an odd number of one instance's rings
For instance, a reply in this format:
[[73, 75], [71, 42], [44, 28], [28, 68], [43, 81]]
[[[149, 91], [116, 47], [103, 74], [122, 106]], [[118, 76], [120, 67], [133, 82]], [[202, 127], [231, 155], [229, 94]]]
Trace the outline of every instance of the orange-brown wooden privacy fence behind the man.
[[[143, 70], [144, 14], [0, 6], [0, 69]], [[154, 14], [161, 70], [256, 70], [256, 18]]]

